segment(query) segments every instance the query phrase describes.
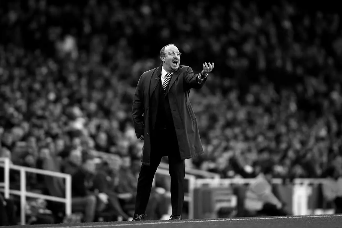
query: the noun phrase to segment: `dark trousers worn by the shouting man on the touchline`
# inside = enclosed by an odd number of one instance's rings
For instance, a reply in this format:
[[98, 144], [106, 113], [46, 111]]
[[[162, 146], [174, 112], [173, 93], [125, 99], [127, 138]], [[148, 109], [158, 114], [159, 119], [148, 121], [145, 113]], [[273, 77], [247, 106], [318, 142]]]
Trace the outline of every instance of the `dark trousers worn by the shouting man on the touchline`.
[[169, 158], [171, 177], [171, 206], [173, 215], [182, 215], [184, 202], [185, 163], [180, 159], [174, 131], [162, 129], [151, 137], [150, 165], [142, 165], [138, 178], [135, 213], [144, 214], [150, 197], [152, 182], [163, 156]]

